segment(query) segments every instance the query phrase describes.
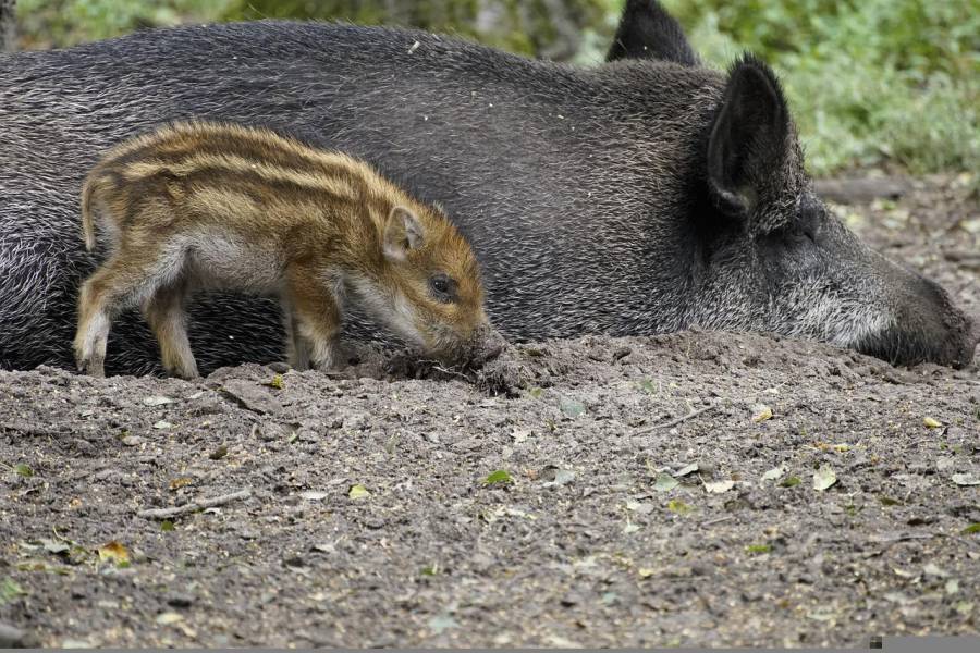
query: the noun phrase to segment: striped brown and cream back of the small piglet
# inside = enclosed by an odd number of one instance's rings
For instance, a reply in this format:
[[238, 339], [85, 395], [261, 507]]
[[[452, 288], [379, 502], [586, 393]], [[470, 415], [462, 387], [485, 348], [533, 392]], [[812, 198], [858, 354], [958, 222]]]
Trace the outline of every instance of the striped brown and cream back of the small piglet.
[[356, 221], [353, 212], [384, 213], [406, 201], [369, 164], [344, 153], [241, 125], [177, 123], [110, 150], [88, 175], [82, 205], [86, 243], [94, 244], [93, 212], [126, 229], [138, 229], [135, 221], [152, 227], [213, 219], [246, 231], [261, 221], [268, 233], [311, 214]]

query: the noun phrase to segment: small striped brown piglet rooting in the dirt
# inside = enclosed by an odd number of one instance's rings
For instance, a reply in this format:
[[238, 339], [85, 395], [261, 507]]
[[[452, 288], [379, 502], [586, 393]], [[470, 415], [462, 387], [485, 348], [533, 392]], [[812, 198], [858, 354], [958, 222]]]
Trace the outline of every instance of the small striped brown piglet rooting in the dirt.
[[348, 304], [449, 360], [492, 334], [476, 257], [444, 214], [363, 161], [269, 131], [184, 123], [124, 141], [83, 186], [89, 251], [97, 223], [110, 254], [82, 284], [75, 336], [94, 375], [112, 319], [140, 306], [164, 370], [196, 377], [185, 306], [201, 288], [275, 296], [298, 369], [340, 362]]

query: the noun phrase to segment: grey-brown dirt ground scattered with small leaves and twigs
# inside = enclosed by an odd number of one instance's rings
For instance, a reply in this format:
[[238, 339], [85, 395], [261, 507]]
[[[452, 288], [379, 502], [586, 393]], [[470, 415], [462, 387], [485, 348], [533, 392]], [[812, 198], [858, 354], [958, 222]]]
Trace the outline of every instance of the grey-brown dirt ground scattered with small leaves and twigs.
[[[969, 183], [837, 210], [980, 312]], [[392, 379], [363, 356], [343, 378], [0, 372], [0, 639], [867, 646], [978, 632], [976, 365], [895, 369], [747, 334], [588, 337], [519, 346], [525, 387], [507, 398]]]

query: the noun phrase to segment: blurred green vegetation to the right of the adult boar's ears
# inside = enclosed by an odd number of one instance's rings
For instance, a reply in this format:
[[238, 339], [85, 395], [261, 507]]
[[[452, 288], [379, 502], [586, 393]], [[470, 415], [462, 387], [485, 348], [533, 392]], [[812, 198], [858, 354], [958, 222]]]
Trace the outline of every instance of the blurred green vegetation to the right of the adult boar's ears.
[[812, 172], [980, 170], [980, 0], [663, 3], [710, 64], [773, 64]]

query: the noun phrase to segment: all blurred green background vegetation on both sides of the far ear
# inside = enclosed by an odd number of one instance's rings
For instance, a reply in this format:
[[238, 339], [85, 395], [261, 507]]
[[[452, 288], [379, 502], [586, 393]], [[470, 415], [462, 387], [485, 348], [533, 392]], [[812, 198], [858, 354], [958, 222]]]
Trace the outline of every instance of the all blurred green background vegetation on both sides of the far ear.
[[[21, 47], [140, 27], [341, 19], [601, 61], [624, 0], [20, 0]], [[980, 170], [980, 0], [663, 0], [706, 62], [751, 50], [781, 73], [816, 174]]]

